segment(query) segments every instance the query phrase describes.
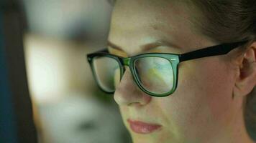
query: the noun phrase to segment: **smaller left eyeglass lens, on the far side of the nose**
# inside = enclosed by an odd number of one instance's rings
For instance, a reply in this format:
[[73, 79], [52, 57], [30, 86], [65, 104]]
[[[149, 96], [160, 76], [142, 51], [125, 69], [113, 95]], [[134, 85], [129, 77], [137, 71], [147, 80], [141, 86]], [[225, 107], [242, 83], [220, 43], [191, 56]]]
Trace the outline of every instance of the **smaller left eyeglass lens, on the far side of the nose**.
[[106, 56], [97, 56], [93, 59], [93, 67], [101, 89], [114, 92], [120, 81], [120, 68], [116, 59]]

